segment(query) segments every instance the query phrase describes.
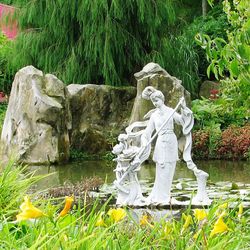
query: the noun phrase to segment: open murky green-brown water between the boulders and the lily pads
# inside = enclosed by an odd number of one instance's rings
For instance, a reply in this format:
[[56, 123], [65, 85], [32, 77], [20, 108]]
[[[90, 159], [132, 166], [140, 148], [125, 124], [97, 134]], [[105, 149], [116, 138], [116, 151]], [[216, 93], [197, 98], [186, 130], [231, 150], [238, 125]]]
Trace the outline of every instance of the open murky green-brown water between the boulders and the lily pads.
[[[198, 161], [196, 162], [200, 169], [205, 170], [210, 175], [210, 181], [230, 181], [250, 183], [250, 165], [248, 162], [238, 161]], [[111, 183], [115, 179], [113, 172], [115, 163], [107, 161], [81, 161], [71, 162], [65, 165], [57, 166], [31, 166], [31, 171], [37, 174], [50, 174], [49, 177], [43, 179], [37, 184], [38, 189], [59, 186], [65, 182], [75, 183], [82, 178], [99, 176], [107, 183]], [[139, 179], [153, 182], [155, 176], [154, 164], [144, 164], [139, 173]], [[176, 167], [174, 179], [192, 178], [194, 175], [186, 165], [179, 162]]]

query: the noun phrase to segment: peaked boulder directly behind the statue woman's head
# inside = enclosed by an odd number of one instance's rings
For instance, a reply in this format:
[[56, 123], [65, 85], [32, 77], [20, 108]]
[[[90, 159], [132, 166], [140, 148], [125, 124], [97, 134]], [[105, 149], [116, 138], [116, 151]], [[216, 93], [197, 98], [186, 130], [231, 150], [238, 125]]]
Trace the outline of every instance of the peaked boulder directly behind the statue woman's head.
[[174, 108], [182, 96], [187, 105], [191, 104], [190, 93], [181, 85], [181, 80], [167, 73], [159, 64], [148, 63], [140, 72], [134, 74], [137, 79], [137, 95], [131, 113], [130, 123], [143, 120], [143, 116], [153, 109], [153, 104], [142, 98], [142, 91], [147, 86], [153, 86], [162, 91], [165, 104]]

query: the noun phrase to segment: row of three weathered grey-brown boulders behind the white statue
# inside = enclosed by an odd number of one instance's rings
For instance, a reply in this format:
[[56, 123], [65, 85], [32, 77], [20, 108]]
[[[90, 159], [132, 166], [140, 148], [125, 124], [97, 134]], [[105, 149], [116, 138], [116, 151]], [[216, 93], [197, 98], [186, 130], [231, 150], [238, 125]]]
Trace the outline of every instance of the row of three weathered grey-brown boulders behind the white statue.
[[153, 108], [141, 98], [149, 85], [163, 92], [170, 107], [182, 96], [190, 104], [181, 81], [158, 64], [147, 64], [135, 77], [137, 90], [94, 84], [65, 87], [33, 66], [21, 69], [12, 85], [2, 129], [2, 155], [47, 164], [67, 161], [70, 147], [89, 154], [111, 151], [114, 138]]

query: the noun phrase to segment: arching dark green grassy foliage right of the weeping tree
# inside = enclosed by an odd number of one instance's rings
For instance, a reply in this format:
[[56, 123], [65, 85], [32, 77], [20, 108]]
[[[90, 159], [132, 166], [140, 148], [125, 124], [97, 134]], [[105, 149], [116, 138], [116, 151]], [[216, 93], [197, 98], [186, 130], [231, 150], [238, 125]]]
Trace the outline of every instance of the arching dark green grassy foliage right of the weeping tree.
[[208, 62], [205, 51], [197, 45], [194, 37], [198, 32], [211, 34], [212, 37], [226, 37], [227, 17], [219, 4], [207, 16], [194, 19], [184, 28], [183, 23], [178, 22], [182, 25], [181, 32], [166, 36], [162, 40], [161, 53], [152, 59], [170, 74], [180, 78], [192, 96], [197, 97], [201, 79], [206, 79]]

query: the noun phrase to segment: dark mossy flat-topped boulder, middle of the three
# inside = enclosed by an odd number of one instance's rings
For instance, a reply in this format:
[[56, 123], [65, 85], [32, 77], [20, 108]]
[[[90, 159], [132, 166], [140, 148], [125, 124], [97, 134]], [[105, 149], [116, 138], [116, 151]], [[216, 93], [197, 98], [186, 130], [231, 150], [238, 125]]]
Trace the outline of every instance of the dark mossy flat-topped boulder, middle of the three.
[[71, 84], [71, 147], [88, 153], [111, 150], [112, 139], [128, 124], [135, 87]]

